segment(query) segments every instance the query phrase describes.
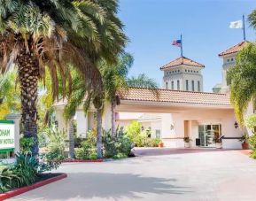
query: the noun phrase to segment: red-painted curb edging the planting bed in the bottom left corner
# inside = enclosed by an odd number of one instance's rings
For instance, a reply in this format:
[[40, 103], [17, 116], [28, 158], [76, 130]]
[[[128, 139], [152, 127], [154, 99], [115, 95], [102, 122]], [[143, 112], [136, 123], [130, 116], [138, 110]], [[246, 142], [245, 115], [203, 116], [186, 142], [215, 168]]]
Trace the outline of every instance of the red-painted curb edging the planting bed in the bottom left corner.
[[15, 197], [15, 196], [18, 196], [22, 193], [25, 193], [29, 190], [32, 190], [32, 189], [37, 189], [39, 187], [42, 187], [44, 185], [47, 185], [51, 182], [57, 182], [58, 180], [62, 180], [64, 178], [66, 178], [66, 174], [59, 174], [57, 176], [54, 176], [54, 177], [50, 177], [49, 179], [45, 179], [43, 181], [40, 181], [40, 182], [35, 182], [29, 186], [25, 186], [25, 187], [21, 187], [19, 189], [12, 189], [8, 192], [5, 192], [5, 193], [1, 193], [0, 194], [0, 200], [4, 200], [4, 199], [8, 199], [10, 197]]

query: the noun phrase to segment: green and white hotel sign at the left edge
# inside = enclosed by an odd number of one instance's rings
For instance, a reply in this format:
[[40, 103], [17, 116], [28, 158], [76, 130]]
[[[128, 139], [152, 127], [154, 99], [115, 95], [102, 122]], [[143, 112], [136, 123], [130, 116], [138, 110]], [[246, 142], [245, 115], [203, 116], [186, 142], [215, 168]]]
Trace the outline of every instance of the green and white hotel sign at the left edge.
[[14, 148], [14, 132], [12, 120], [0, 120], [0, 152]]

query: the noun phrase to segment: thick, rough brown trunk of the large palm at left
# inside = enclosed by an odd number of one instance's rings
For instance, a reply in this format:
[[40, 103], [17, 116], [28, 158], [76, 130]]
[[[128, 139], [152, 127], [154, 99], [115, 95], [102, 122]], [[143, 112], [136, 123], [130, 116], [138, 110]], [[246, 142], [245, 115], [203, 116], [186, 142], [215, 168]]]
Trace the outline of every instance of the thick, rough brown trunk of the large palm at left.
[[38, 157], [37, 137], [37, 84], [39, 78], [39, 63], [31, 53], [21, 50], [18, 58], [19, 82], [21, 89], [21, 122], [24, 126], [24, 136], [33, 138], [34, 145], [31, 147], [32, 156]]

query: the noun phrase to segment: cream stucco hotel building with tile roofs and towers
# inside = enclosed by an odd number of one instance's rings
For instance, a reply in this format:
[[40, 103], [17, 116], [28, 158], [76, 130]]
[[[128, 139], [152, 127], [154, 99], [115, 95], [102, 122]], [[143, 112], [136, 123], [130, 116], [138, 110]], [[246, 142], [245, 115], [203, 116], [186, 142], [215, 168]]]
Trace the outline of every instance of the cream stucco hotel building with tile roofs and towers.
[[[229, 86], [226, 73], [235, 64], [237, 52], [248, 42], [237, 45], [219, 54], [223, 59], [222, 83], [214, 93], [203, 92], [204, 65], [190, 58], [176, 58], [160, 67], [163, 71], [163, 89], [156, 97], [150, 89], [131, 88], [120, 93], [120, 105], [115, 108], [116, 126], [127, 126], [132, 120], [140, 121], [145, 129], [151, 129], [151, 137], [159, 137], [167, 147], [183, 147], [183, 137], [189, 136], [192, 147], [214, 147], [214, 138], [222, 139], [223, 148], [240, 149], [238, 139], [247, 128], [237, 128], [233, 105], [229, 101]], [[218, 92], [218, 93], [216, 93]], [[56, 104], [58, 122], [62, 121], [65, 103]], [[82, 108], [76, 112], [77, 133], [86, 136], [94, 128], [93, 108], [85, 116]], [[252, 105], [244, 114], [252, 114]], [[64, 121], [63, 121], [64, 122]], [[64, 125], [62, 125], [64, 126]], [[62, 127], [60, 126], [60, 127]], [[111, 111], [105, 105], [103, 127], [111, 128]]]

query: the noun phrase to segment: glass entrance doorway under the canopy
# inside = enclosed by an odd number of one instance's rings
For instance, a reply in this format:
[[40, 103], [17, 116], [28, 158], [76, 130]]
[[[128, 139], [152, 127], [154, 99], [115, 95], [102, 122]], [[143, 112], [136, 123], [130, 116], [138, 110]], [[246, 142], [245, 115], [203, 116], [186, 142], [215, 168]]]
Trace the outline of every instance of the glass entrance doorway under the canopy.
[[200, 146], [213, 147], [214, 139], [221, 137], [221, 124], [199, 125]]

